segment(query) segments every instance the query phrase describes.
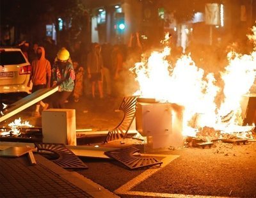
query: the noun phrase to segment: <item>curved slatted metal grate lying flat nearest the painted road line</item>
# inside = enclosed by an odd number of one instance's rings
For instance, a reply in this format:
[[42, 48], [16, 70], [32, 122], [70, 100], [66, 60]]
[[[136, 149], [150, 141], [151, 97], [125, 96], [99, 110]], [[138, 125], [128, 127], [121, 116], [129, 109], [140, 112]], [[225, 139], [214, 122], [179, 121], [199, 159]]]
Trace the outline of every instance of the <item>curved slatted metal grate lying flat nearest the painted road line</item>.
[[163, 162], [160, 162], [154, 157], [145, 157], [145, 156], [136, 156], [134, 153], [140, 152], [140, 149], [130, 147], [116, 149], [113, 151], [106, 151], [105, 155], [114, 158], [118, 162], [121, 162], [129, 169], [138, 169], [141, 167], [149, 167], [152, 165], [161, 165]]

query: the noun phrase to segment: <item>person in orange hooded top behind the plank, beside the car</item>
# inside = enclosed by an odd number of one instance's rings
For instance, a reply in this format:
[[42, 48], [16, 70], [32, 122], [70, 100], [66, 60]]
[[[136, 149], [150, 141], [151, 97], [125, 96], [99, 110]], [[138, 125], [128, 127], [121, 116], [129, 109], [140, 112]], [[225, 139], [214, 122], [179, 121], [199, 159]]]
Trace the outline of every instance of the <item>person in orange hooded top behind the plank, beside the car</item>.
[[[44, 47], [36, 49], [36, 59], [31, 64], [28, 87], [30, 87], [31, 82], [33, 83], [32, 93], [51, 86], [51, 63], [45, 58]], [[42, 100], [38, 102], [34, 113], [35, 117], [40, 117], [40, 106], [42, 106], [43, 110], [46, 110], [49, 104], [44, 103]]]

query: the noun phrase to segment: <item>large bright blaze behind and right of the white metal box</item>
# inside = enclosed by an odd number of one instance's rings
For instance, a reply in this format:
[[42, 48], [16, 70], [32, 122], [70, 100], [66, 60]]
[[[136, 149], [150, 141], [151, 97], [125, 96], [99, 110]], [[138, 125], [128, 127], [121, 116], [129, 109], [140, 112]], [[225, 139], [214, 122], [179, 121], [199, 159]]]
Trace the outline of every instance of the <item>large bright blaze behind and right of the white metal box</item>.
[[[255, 43], [253, 52], [228, 53], [228, 65], [220, 72], [223, 86], [217, 85], [220, 83], [213, 73], [198, 68], [190, 55], [181, 56], [175, 65], [171, 65], [168, 61], [171, 49], [166, 45], [163, 50], [152, 52], [150, 57], [142, 57], [132, 68], [140, 85], [135, 94], [184, 106], [184, 136], [196, 137], [198, 130], [206, 126], [221, 133], [237, 132], [239, 137], [252, 139], [250, 132], [254, 125], [242, 126], [240, 105], [241, 97], [250, 93], [256, 76], [256, 27], [252, 31], [253, 35], [248, 38]], [[223, 98], [218, 105], [217, 98]]]

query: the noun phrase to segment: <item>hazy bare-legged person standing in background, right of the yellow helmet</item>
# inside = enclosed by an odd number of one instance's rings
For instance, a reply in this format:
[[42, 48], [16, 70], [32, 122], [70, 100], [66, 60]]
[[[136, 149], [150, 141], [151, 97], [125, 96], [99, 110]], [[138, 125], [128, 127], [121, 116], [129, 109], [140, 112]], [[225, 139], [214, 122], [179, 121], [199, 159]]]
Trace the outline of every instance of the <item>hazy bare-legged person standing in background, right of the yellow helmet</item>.
[[89, 52], [87, 60], [88, 79], [90, 79], [90, 81], [92, 82], [92, 98], [95, 98], [96, 82], [98, 85], [100, 98], [103, 98], [102, 67], [103, 61], [101, 56], [100, 44], [93, 43], [92, 50]]

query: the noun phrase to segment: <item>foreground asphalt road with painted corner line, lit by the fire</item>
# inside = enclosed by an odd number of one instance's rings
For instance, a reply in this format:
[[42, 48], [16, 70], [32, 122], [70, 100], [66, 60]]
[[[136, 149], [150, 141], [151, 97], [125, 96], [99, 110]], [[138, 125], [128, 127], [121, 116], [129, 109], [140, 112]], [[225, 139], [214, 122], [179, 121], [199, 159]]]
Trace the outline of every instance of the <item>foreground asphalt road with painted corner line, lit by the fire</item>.
[[[114, 160], [83, 158], [89, 168], [78, 172], [112, 192], [122, 192], [121, 197], [256, 197], [255, 142], [219, 142], [212, 148], [166, 149], [158, 154], [159, 159], [163, 154], [179, 157], [165, 167], [135, 171]], [[143, 176], [150, 170], [152, 174]]]

